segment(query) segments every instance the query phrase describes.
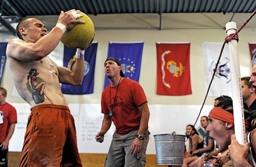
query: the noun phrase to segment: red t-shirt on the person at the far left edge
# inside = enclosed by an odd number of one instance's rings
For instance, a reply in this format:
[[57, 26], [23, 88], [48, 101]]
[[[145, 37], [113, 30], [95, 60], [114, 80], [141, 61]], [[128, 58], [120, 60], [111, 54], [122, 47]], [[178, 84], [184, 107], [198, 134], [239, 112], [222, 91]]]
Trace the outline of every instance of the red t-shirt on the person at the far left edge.
[[17, 123], [16, 109], [9, 103], [0, 105], [0, 119], [4, 121], [4, 123], [0, 124], [0, 142], [2, 143], [6, 139], [9, 125]]

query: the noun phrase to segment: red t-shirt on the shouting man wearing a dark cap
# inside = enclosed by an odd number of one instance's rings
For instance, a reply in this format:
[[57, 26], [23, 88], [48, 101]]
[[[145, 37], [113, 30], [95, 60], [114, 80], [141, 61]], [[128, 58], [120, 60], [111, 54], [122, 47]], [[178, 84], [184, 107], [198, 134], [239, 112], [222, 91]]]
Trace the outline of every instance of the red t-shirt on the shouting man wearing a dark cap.
[[119, 86], [111, 87], [109, 84], [102, 92], [101, 113], [108, 114], [109, 110], [113, 110], [111, 119], [116, 132], [126, 134], [139, 129], [142, 113], [138, 107], [145, 102], [147, 97], [142, 86], [132, 79], [123, 78]]

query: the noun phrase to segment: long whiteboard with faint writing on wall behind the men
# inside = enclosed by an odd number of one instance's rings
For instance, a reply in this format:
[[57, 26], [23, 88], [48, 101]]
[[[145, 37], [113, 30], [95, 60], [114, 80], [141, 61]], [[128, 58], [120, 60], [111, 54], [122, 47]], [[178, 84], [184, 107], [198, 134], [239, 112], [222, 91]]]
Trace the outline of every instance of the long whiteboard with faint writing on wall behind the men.
[[[18, 123], [9, 142], [9, 151], [21, 152], [30, 106], [24, 103], [12, 105], [17, 110]], [[148, 105], [148, 107], [150, 109], [148, 130], [151, 134], [147, 154], [155, 154], [154, 135], [172, 132], [184, 135], [186, 125], [195, 123], [201, 108], [200, 105]], [[200, 116], [208, 116], [212, 107], [211, 105], [205, 105]], [[103, 120], [100, 104], [69, 104], [69, 108], [75, 120], [79, 152], [108, 153], [115, 127], [112, 124], [105, 134], [103, 143], [95, 141], [95, 135], [100, 131]], [[197, 121], [196, 127], [199, 125], [200, 119]]]

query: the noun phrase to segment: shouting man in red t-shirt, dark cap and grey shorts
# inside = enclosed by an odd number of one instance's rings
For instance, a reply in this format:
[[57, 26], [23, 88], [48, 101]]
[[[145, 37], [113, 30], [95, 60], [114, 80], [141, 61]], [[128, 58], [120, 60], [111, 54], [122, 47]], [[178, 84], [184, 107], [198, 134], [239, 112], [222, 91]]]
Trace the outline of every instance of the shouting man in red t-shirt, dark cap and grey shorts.
[[103, 142], [113, 121], [116, 131], [109, 147], [105, 167], [145, 166], [149, 139], [150, 112], [145, 92], [139, 83], [124, 78], [119, 60], [109, 57], [105, 73], [110, 84], [101, 94], [101, 113], [104, 114], [96, 141]]

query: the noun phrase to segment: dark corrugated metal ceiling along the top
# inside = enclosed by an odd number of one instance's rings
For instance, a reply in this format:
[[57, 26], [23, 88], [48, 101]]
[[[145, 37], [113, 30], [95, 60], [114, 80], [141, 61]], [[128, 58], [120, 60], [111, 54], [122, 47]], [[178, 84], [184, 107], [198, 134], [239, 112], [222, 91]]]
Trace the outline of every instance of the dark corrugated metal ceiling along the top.
[[15, 33], [10, 22], [33, 15], [59, 15], [80, 9], [86, 14], [251, 13], [255, 0], [0, 0], [0, 23]]

